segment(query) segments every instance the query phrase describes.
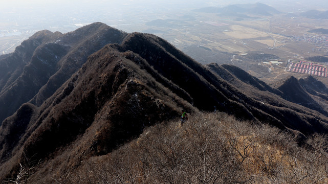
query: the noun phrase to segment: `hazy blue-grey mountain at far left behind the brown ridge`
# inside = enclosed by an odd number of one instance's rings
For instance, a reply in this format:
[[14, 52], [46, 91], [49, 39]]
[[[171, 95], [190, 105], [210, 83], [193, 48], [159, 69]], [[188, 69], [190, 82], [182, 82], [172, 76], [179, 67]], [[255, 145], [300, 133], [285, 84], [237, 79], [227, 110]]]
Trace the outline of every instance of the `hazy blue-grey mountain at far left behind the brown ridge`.
[[4, 66], [0, 74], [0, 122], [22, 103], [31, 100], [41, 105], [90, 54], [105, 44], [119, 43], [125, 35], [96, 23], [64, 35], [41, 31], [24, 41], [12, 55], [0, 60]]

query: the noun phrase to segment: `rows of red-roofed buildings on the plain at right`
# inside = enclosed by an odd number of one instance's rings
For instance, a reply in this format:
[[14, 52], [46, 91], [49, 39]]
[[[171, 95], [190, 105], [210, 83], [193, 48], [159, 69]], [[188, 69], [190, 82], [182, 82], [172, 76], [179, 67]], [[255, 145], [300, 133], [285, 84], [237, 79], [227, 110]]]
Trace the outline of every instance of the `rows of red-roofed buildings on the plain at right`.
[[309, 74], [318, 77], [327, 77], [327, 67], [307, 61], [293, 62], [288, 61], [288, 72]]

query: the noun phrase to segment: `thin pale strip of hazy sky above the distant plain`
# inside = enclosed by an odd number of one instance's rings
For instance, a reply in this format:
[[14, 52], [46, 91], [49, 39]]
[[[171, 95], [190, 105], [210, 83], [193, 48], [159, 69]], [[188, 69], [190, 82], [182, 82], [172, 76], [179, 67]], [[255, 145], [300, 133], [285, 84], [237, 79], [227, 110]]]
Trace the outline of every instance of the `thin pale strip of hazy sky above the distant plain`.
[[[255, 3], [255, 2], [261, 2], [265, 4], [272, 4], [275, 6], [275, 8], [284, 9], [287, 7], [292, 7], [293, 5], [300, 6], [300, 7], [308, 7], [311, 8], [321, 8], [321, 9], [328, 9], [328, 3], [326, 0], [232, 0], [232, 1], [223, 1], [223, 0], [110, 0], [110, 1], [104, 1], [104, 0], [71, 0], [71, 1], [65, 1], [65, 0], [55, 0], [55, 1], [41, 1], [41, 0], [0, 0], [1, 5], [0, 9], [6, 10], [6, 9], [33, 9], [38, 7], [47, 7], [47, 8], [60, 8], [60, 7], [72, 7], [75, 6], [78, 7], [90, 7], [95, 8], [98, 6], [98, 8], [101, 8], [99, 6], [113, 6], [115, 8], [124, 8], [124, 6], [128, 5], [137, 5], [138, 7], [149, 7], [156, 5], [163, 5], [167, 4], [167, 7], [174, 4], [179, 4], [179, 6], [171, 6], [171, 8], [181, 8], [181, 5], [184, 5], [186, 8], [200, 8], [201, 6], [226, 6], [228, 4], [246, 4], [246, 3]], [[280, 5], [280, 6], [279, 6]]]

